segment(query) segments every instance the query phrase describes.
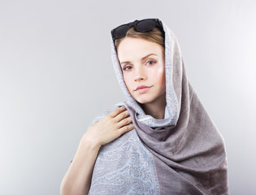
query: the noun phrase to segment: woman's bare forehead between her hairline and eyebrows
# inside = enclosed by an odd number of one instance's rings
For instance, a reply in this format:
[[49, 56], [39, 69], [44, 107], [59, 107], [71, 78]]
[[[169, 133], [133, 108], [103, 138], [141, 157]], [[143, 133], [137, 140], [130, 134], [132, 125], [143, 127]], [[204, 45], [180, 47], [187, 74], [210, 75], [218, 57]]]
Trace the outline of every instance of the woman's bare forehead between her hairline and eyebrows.
[[163, 46], [141, 38], [126, 37], [120, 42], [117, 54], [120, 61], [141, 59], [148, 54], [163, 55]]

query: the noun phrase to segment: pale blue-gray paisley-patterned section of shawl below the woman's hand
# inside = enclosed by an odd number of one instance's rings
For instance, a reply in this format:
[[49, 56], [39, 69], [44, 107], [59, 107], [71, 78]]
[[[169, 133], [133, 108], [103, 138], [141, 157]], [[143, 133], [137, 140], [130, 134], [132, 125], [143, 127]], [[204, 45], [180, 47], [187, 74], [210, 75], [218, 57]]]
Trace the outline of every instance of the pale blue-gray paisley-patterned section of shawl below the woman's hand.
[[102, 147], [89, 194], [160, 194], [156, 174], [152, 154], [133, 129]]

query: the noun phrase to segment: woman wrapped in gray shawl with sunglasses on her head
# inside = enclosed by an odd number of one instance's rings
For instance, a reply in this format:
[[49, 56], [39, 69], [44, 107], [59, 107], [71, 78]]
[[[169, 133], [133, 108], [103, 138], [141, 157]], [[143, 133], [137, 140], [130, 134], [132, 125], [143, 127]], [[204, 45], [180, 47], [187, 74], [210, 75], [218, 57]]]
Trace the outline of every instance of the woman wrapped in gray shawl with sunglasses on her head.
[[187, 80], [174, 34], [147, 19], [111, 35], [127, 101], [85, 132], [62, 194], [228, 194], [223, 139]]

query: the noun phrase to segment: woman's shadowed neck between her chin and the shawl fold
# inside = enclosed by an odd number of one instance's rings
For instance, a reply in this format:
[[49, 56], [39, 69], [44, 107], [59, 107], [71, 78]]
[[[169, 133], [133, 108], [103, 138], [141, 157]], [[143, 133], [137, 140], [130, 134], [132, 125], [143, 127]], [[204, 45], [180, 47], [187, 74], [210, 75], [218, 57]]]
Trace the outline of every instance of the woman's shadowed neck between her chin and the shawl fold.
[[165, 94], [163, 98], [158, 98], [154, 102], [141, 104], [141, 108], [146, 115], [152, 115], [154, 119], [164, 119], [164, 112], [166, 106]]

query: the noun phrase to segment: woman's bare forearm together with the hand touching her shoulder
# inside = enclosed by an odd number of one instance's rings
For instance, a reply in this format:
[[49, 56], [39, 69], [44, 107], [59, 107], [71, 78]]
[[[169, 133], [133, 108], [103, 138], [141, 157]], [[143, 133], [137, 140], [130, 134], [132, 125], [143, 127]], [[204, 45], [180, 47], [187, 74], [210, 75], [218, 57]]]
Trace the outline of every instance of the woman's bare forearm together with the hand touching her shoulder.
[[[134, 128], [125, 106], [121, 106], [91, 125], [80, 141], [75, 158], [61, 184], [61, 195], [87, 194], [93, 167], [101, 145], [115, 140]], [[128, 125], [129, 124], [129, 125]]]

